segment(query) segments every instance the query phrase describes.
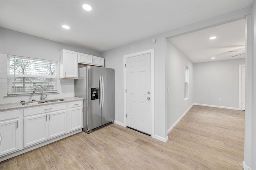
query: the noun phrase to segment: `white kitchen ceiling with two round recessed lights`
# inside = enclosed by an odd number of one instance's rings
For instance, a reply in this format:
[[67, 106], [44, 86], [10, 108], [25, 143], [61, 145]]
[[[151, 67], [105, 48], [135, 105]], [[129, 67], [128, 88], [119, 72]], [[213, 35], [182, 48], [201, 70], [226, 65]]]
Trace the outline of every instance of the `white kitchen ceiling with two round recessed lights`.
[[[113, 49], [246, 8], [253, 0], [0, 0], [0, 27], [86, 47]], [[90, 4], [91, 12], [82, 9]], [[61, 25], [71, 28], [64, 30]]]

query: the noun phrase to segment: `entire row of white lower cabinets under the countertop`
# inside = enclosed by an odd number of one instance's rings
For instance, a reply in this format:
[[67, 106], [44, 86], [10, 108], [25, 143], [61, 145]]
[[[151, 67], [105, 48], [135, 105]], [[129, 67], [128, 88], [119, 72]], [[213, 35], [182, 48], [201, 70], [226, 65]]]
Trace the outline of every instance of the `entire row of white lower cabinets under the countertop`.
[[81, 131], [83, 103], [78, 100], [0, 112], [0, 162], [24, 153], [23, 149], [32, 150]]

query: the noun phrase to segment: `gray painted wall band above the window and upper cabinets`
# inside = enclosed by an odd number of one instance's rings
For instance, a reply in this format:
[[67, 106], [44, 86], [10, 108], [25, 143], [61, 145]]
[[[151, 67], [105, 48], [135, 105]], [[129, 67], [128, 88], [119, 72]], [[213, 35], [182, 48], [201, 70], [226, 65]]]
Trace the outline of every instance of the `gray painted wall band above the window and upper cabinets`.
[[74, 47], [2, 27], [0, 27], [0, 37], [0, 53], [2, 54], [19, 55], [23, 57], [54, 61], [59, 61], [59, 51], [62, 49], [95, 56], [100, 55], [99, 52], [86, 49], [84, 47]]

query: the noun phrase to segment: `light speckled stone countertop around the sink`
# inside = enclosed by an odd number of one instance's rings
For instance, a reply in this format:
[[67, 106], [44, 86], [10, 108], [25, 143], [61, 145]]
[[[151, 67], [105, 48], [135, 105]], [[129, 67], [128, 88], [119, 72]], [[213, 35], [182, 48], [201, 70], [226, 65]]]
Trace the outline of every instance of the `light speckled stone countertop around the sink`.
[[59, 102], [49, 102], [49, 103], [33, 103], [31, 105], [22, 105], [20, 102], [18, 103], [10, 103], [10, 104], [0, 104], [0, 111], [6, 111], [6, 110], [12, 110], [12, 109], [23, 109], [26, 107], [35, 107], [35, 106], [45, 106], [50, 104], [59, 104], [59, 103], [66, 103], [66, 102], [74, 102], [78, 100], [84, 100], [83, 98], [78, 97], [68, 97], [68, 98], [56, 98], [56, 99], [49, 99], [49, 100], [58, 100], [58, 99], [64, 99], [63, 101]]

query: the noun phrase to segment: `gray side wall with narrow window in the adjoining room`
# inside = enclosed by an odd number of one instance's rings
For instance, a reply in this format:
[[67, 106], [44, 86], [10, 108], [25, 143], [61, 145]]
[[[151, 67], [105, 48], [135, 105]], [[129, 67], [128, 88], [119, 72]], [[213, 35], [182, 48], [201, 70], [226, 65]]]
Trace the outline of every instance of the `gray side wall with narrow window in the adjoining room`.
[[[189, 67], [189, 97], [184, 101], [184, 65]], [[193, 63], [168, 41], [168, 55], [166, 55], [168, 129], [193, 104]]]

